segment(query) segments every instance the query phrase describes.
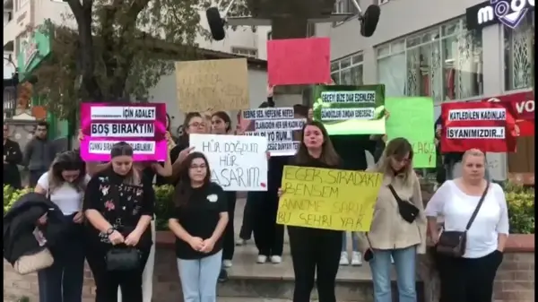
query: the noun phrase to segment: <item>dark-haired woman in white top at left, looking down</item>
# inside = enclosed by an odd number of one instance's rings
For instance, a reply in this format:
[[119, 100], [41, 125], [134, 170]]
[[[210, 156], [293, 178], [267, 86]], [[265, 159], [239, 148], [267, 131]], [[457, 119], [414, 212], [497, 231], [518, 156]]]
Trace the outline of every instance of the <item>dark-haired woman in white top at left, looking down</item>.
[[[39, 302], [81, 302], [84, 278], [82, 195], [90, 177], [75, 151], [56, 156], [48, 172], [39, 177], [35, 192], [45, 194], [65, 215], [69, 231], [51, 250], [54, 264], [38, 272]], [[41, 218], [39, 223], [46, 223]]]

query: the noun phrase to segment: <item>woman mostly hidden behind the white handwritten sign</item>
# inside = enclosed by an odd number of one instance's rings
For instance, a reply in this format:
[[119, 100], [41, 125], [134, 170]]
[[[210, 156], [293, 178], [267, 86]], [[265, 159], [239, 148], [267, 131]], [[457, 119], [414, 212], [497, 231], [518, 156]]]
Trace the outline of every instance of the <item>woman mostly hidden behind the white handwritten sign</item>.
[[[231, 118], [224, 111], [217, 111], [211, 116], [212, 134], [230, 134]], [[224, 244], [222, 248], [222, 266], [231, 267], [231, 260], [235, 250], [234, 242], [234, 225], [233, 218], [235, 213], [237, 193], [235, 191], [226, 192], [226, 201], [228, 203], [228, 225], [224, 232]]]

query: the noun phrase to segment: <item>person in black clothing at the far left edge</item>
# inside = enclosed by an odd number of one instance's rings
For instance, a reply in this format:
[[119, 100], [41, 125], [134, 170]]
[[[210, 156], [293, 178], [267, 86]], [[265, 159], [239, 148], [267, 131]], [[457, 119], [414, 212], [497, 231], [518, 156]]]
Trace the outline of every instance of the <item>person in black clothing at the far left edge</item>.
[[9, 138], [9, 126], [4, 124], [4, 186], [21, 188], [21, 173], [17, 165], [22, 162], [21, 147]]

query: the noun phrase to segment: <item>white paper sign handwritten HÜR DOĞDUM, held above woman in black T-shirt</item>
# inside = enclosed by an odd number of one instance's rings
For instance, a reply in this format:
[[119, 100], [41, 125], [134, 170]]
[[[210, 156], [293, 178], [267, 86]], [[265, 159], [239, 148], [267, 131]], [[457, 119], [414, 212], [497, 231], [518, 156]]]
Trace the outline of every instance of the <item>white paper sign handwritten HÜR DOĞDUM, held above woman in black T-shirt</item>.
[[224, 191], [267, 191], [267, 138], [190, 134], [189, 144], [204, 153], [212, 181]]

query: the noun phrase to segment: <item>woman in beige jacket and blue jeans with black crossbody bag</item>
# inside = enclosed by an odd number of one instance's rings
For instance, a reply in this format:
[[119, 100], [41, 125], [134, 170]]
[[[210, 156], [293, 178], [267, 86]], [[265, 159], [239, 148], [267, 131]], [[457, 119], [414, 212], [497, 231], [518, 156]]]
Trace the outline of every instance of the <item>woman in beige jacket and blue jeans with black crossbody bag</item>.
[[395, 138], [374, 168], [383, 173], [370, 231], [359, 233], [359, 246], [369, 262], [374, 282], [374, 301], [391, 302], [391, 256], [396, 269], [400, 302], [416, 302], [416, 255], [426, 247], [426, 217], [421, 185], [412, 168], [412, 145]]

